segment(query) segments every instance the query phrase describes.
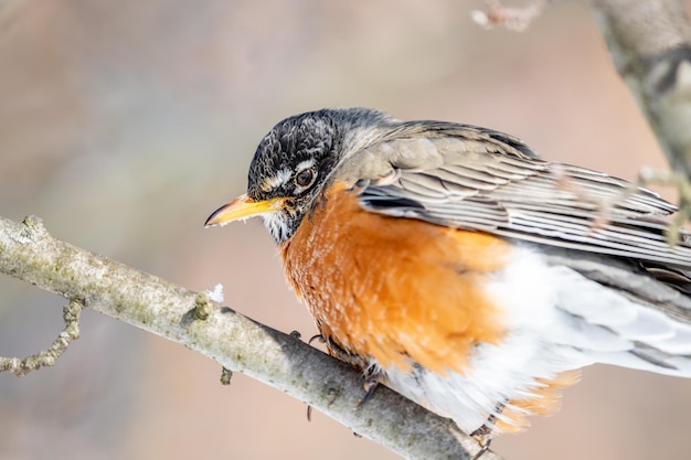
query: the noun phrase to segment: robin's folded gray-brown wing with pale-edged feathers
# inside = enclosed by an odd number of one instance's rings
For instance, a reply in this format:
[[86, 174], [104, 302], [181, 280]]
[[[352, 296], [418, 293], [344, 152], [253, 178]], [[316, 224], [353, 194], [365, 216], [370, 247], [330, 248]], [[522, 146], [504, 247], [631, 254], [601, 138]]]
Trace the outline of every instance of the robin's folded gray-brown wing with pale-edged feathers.
[[682, 231], [673, 247], [665, 235], [674, 205], [627, 181], [540, 160], [508, 135], [402, 124], [359, 154], [366, 210], [691, 269], [691, 235]]

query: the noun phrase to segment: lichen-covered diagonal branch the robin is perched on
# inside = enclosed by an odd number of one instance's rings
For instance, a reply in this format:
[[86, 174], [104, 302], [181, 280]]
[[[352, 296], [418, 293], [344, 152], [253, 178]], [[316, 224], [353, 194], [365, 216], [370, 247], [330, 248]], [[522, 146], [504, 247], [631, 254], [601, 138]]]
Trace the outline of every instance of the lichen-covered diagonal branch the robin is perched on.
[[[36, 217], [22, 224], [0, 217], [0, 272], [198, 351], [404, 458], [463, 460], [479, 449], [450, 420], [387, 388], [358, 406], [364, 395], [362, 377], [349, 365], [203, 293], [55, 239]], [[492, 452], [482, 457], [498, 459]]]

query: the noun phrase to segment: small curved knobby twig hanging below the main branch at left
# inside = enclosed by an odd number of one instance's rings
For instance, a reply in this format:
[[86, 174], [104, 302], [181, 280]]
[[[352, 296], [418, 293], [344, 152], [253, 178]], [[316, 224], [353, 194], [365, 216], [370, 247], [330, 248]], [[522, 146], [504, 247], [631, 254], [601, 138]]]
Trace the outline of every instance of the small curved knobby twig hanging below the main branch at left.
[[24, 359], [0, 356], [0, 372], [11, 372], [18, 377], [21, 377], [32, 371], [38, 371], [41, 367], [50, 367], [55, 364], [63, 352], [67, 350], [70, 343], [79, 338], [79, 314], [82, 313], [82, 303], [72, 300], [63, 308], [65, 329], [63, 329], [57, 335], [57, 339], [53, 341], [53, 344], [47, 350], [42, 350]]

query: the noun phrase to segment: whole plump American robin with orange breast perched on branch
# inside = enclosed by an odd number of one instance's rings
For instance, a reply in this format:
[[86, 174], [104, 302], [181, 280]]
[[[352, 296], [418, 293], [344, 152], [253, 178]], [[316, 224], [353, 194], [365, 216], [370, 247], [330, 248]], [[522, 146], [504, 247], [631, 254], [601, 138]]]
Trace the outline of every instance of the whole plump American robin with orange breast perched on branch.
[[206, 225], [262, 216], [333, 354], [489, 436], [593, 363], [691, 377], [674, 211], [502, 132], [349, 108], [276, 125]]

